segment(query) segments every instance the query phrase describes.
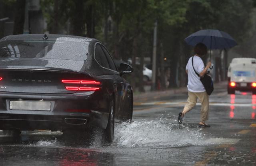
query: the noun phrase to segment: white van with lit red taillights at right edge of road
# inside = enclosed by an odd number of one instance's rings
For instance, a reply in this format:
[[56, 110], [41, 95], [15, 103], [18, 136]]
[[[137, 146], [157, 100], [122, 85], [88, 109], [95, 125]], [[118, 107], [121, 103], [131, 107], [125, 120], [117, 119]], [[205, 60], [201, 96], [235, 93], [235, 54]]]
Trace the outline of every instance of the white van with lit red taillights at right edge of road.
[[234, 58], [228, 67], [228, 94], [235, 91], [256, 94], [256, 59]]

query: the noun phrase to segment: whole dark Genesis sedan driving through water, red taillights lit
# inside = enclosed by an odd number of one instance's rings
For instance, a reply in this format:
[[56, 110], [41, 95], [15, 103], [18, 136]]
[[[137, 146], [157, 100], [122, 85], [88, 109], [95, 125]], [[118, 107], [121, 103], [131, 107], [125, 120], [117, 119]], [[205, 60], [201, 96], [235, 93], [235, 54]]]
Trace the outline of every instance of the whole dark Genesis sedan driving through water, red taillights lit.
[[92, 38], [13, 35], [0, 40], [0, 130], [100, 127], [108, 142], [114, 121], [131, 121], [133, 93], [110, 53]]

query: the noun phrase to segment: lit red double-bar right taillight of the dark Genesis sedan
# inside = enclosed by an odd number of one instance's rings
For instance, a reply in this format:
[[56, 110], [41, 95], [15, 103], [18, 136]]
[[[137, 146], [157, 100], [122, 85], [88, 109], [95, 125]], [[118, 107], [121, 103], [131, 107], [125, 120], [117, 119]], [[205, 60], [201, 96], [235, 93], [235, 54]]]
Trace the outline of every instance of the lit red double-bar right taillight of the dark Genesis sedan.
[[101, 82], [93, 80], [68, 80], [62, 79], [62, 83], [76, 84], [74, 86], [65, 86], [68, 91], [97, 91], [100, 90]]

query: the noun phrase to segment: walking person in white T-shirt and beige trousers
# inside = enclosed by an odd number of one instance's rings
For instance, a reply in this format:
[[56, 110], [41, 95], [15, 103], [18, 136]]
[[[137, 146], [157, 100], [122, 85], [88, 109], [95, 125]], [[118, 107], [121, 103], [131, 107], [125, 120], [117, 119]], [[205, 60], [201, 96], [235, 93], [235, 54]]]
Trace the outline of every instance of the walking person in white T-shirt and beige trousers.
[[[204, 62], [201, 57], [206, 55], [207, 47], [203, 43], [198, 43], [194, 47], [195, 55], [190, 57], [186, 65], [186, 73], [188, 74], [188, 103], [185, 105], [183, 111], [179, 113], [178, 123], [182, 124], [183, 117], [196, 105], [197, 99], [201, 103], [201, 118], [200, 118], [200, 127], [210, 127], [210, 125], [205, 122], [208, 120], [209, 112], [209, 96], [206, 93], [204, 85], [200, 81], [200, 77], [204, 77], [207, 73], [208, 68], [212, 65], [209, 61], [204, 67]], [[194, 69], [193, 69], [193, 65]], [[195, 73], [199, 73], [199, 76]]]

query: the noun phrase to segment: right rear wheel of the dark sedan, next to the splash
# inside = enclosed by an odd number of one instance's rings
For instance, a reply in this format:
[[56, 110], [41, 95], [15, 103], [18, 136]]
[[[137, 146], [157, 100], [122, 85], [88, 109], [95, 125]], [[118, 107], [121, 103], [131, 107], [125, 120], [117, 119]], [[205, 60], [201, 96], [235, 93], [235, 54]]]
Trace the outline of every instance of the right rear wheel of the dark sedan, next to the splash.
[[115, 102], [112, 100], [110, 105], [110, 113], [108, 116], [108, 124], [103, 131], [104, 140], [111, 143], [114, 140], [114, 124], [115, 124]]

